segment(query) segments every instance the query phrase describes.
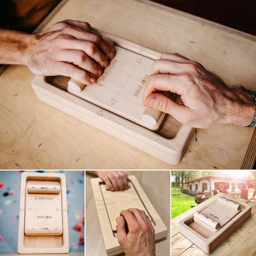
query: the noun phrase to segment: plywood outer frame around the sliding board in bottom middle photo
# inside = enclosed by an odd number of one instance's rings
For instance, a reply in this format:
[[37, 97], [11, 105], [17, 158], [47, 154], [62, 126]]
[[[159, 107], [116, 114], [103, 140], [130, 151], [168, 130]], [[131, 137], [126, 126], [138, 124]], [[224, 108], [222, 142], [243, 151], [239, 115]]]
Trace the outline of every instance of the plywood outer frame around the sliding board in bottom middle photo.
[[[152, 218], [152, 221], [155, 224], [154, 228], [156, 241], [166, 237], [168, 234], [168, 230], [164, 225], [164, 222], [161, 220], [158, 213], [156, 212], [154, 206], [149, 201], [148, 196], [141, 188], [140, 183], [134, 175], [129, 175], [128, 178], [132, 182], [134, 188], [140, 196], [142, 203], [144, 204], [145, 208], [147, 209], [148, 213]], [[112, 227], [108, 218], [108, 212], [106, 210], [103, 196], [100, 190], [100, 184], [104, 184], [104, 182], [100, 178], [92, 178], [91, 183], [106, 253], [108, 256], [121, 254], [124, 251], [121, 245], [118, 243], [117, 237], [113, 235]]]

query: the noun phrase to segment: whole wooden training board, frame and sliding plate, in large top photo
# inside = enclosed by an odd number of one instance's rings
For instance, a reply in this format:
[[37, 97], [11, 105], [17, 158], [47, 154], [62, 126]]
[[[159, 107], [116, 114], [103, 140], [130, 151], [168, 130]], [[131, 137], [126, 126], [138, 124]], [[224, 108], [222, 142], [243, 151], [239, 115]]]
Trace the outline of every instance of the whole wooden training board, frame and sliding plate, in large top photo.
[[[106, 32], [99, 33], [113, 40], [116, 50], [116, 57], [105, 75], [96, 84], [85, 86], [82, 92], [68, 88], [69, 78], [35, 76], [31, 85], [37, 97], [169, 164], [178, 164], [195, 129], [180, 124], [172, 116], [166, 117], [166, 114], [162, 114], [153, 126], [141, 118], [146, 108], [142, 105], [142, 95], [151, 73], [149, 66], [161, 54]], [[124, 72], [126, 67], [127, 73]], [[116, 73], [119, 73], [118, 77]], [[107, 87], [109, 90], [106, 91]], [[175, 97], [176, 94], [171, 95], [172, 99]], [[121, 112], [124, 116], [120, 116]]]

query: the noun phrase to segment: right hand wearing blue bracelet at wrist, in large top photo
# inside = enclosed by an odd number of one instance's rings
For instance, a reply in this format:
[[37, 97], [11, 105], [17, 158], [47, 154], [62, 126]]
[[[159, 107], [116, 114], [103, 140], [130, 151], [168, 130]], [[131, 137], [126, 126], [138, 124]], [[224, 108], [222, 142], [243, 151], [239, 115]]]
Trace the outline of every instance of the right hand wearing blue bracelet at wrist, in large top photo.
[[[183, 105], [158, 91], [180, 95]], [[220, 77], [180, 54], [164, 53], [152, 66], [143, 105], [172, 115], [182, 124], [206, 128], [214, 124], [250, 125], [255, 103], [244, 87], [228, 88]]]

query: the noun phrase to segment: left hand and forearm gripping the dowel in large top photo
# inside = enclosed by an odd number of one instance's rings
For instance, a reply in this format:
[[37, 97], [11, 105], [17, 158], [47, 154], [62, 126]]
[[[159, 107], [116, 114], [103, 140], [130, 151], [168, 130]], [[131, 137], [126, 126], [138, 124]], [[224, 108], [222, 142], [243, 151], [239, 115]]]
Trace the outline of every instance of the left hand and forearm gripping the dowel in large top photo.
[[64, 20], [37, 34], [0, 29], [0, 63], [23, 64], [36, 75], [70, 76], [92, 84], [101, 76], [113, 45], [95, 34], [87, 22]]

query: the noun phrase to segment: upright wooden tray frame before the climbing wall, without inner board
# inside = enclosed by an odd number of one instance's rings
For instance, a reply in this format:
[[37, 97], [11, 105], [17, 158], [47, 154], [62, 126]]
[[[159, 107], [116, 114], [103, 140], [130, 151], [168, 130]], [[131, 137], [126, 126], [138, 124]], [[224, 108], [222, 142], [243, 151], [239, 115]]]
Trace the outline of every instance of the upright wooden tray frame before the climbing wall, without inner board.
[[[27, 180], [57, 180], [61, 187], [61, 205], [62, 205], [62, 229], [61, 235], [49, 236], [27, 236], [25, 234], [25, 195]], [[18, 253], [19, 254], [52, 254], [52, 253], [68, 253], [69, 252], [69, 238], [68, 238], [68, 209], [67, 205], [67, 189], [66, 189], [66, 175], [62, 173], [35, 173], [23, 172], [21, 173], [20, 181], [20, 209], [19, 209], [19, 228], [18, 228]], [[66, 211], [65, 211], [66, 210]], [[36, 243], [45, 243], [44, 248], [27, 247], [24, 243], [24, 238], [31, 239]], [[62, 245], [48, 248], [49, 244], [55, 243], [55, 238], [61, 237]], [[47, 238], [47, 239], [46, 239]], [[42, 240], [42, 241], [41, 241]]]

